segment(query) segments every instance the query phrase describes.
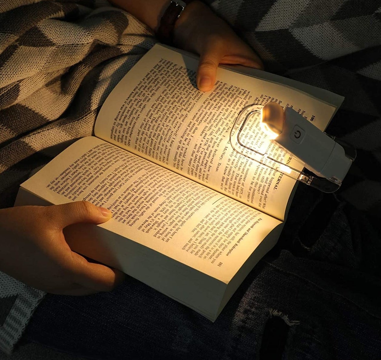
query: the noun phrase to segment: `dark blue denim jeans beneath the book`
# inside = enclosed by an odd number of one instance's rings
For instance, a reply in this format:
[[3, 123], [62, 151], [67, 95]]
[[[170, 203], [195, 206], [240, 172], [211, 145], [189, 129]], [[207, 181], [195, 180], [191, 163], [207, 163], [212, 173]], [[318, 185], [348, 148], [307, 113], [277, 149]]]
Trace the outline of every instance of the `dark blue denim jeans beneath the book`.
[[215, 323], [127, 277], [48, 294], [24, 334], [94, 359], [379, 359], [379, 219], [300, 185], [279, 242]]

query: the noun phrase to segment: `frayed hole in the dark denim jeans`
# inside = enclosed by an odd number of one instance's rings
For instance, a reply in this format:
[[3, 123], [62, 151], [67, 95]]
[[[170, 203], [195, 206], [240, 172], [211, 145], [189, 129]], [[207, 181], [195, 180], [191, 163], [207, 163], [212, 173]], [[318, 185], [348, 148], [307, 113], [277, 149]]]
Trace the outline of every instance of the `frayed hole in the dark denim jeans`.
[[267, 318], [263, 329], [259, 359], [280, 360], [286, 349], [288, 334], [291, 326], [298, 325], [298, 321], [292, 321], [282, 312], [269, 309], [270, 316]]

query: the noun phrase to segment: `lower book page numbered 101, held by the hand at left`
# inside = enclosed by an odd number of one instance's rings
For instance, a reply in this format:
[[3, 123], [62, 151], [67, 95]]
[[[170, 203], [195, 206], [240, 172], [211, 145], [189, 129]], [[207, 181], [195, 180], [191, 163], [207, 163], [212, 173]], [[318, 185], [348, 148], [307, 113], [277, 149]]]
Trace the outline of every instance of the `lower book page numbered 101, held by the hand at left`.
[[75, 142], [22, 188], [53, 204], [109, 208], [112, 219], [99, 226], [225, 283], [280, 224], [95, 137]]

